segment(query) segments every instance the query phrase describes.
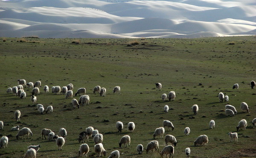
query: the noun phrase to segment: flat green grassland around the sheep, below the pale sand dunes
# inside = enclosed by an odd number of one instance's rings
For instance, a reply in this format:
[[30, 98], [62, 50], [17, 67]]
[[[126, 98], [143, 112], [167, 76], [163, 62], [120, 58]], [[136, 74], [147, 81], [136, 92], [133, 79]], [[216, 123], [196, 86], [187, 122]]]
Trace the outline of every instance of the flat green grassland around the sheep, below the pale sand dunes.
[[[18, 42], [17, 42], [18, 41]], [[74, 42], [74, 43], [73, 43]], [[256, 89], [250, 81], [256, 80], [256, 36], [214, 37], [199, 39], [137, 39], [138, 45], [127, 46], [131, 39], [41, 39], [0, 38], [0, 120], [4, 122], [0, 135], [9, 135], [8, 148], [0, 149], [5, 158], [22, 157], [29, 145], [41, 145], [37, 157], [76, 157], [80, 132], [93, 126], [104, 136], [103, 145], [109, 155], [118, 149], [122, 158], [158, 158], [158, 153], [137, 155], [137, 144], [153, 140], [154, 129], [163, 126], [163, 120], [172, 121], [178, 141], [174, 156], [186, 157], [184, 149], [190, 147], [192, 158], [255, 157]], [[6, 94], [8, 87], [17, 86], [17, 79], [27, 82], [41, 80], [41, 94], [37, 103], [46, 108], [53, 106], [53, 113], [39, 114], [30, 101], [31, 89], [25, 88], [26, 99]], [[156, 91], [154, 83], [163, 85]], [[90, 105], [73, 109], [72, 99], [64, 95], [44, 94], [43, 86], [67, 86], [73, 83], [75, 93], [87, 88]], [[201, 83], [201, 84], [200, 84]], [[232, 89], [239, 83], [239, 89]], [[107, 89], [105, 97], [93, 94], [93, 87]], [[121, 87], [121, 94], [113, 94], [114, 86]], [[176, 92], [175, 101], [162, 101], [161, 95]], [[218, 93], [230, 98], [238, 113], [226, 117], [226, 103], [218, 101]], [[73, 97], [79, 99], [79, 96]], [[250, 113], [241, 112], [240, 103], [246, 102]], [[198, 104], [198, 115], [193, 115], [192, 105]], [[163, 106], [169, 105], [169, 112]], [[21, 112], [20, 122], [14, 121], [14, 111]], [[215, 120], [215, 129], [209, 129], [209, 121]], [[235, 132], [241, 119], [248, 126], [239, 131], [238, 142], [230, 142], [228, 132]], [[116, 121], [124, 123], [118, 133]], [[128, 132], [128, 122], [136, 124], [134, 132]], [[33, 136], [16, 140], [13, 126], [29, 127]], [[191, 133], [183, 130], [189, 126]], [[58, 151], [55, 141], [42, 140], [41, 129], [67, 129], [66, 144]], [[206, 147], [194, 147], [199, 135], [208, 135]], [[131, 136], [131, 147], [119, 148], [123, 135]], [[157, 138], [160, 150], [164, 139]], [[87, 143], [89, 156], [95, 156], [92, 138]], [[87, 156], [88, 156], [87, 155]]]

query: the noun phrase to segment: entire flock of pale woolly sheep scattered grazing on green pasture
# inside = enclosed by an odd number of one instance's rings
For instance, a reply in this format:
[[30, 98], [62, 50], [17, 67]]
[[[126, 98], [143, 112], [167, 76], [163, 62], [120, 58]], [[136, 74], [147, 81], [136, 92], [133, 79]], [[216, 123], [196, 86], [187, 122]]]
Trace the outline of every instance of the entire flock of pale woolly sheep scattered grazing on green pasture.
[[[35, 82], [35, 84], [33, 84], [32, 82], [29, 82], [29, 83], [26, 83], [26, 80], [22, 79], [18, 79], [18, 86], [14, 86], [14, 87], [10, 87], [7, 89], [7, 93], [9, 94], [14, 94], [14, 95], [17, 95], [20, 99], [23, 99], [23, 98], [26, 98], [26, 92], [24, 92], [23, 90], [23, 87], [26, 87], [29, 88], [29, 89], [32, 89], [32, 96], [31, 96], [31, 101], [32, 101], [32, 104], [35, 105], [36, 104], [36, 101], [37, 101], [37, 98], [36, 96], [40, 94], [40, 90], [39, 90], [39, 87], [41, 86], [41, 81], [37, 81]], [[254, 89], [254, 86], [255, 86], [255, 82], [254, 81], [251, 81], [251, 88]], [[161, 83], [156, 83], [156, 88], [157, 88], [157, 91], [160, 91], [161, 88], [162, 88], [162, 84]], [[236, 83], [234, 84], [233, 86], [233, 89], [239, 89], [239, 85]], [[63, 94], [65, 94], [65, 98], [73, 98], [73, 84], [68, 84], [67, 86], [63, 86], [62, 88], [60, 86], [52, 86], [52, 93], [55, 93], [55, 94], [60, 94], [61, 92]], [[48, 93], [49, 92], [49, 87], [46, 85], [44, 86], [44, 92], [45, 93]], [[80, 105], [89, 105], [89, 102], [90, 102], [90, 97], [89, 95], [85, 95], [86, 93], [86, 89], [85, 88], [79, 88], [77, 90], [77, 92], [75, 93], [75, 96], [79, 95], [80, 98], [79, 98], [79, 101], [77, 101], [76, 99], [72, 99], [71, 103], [73, 104], [73, 108], [76, 108]], [[100, 86], [95, 86], [94, 89], [93, 89], [93, 93], [96, 94], [96, 93], [99, 93], [100, 96], [105, 96], [106, 94], [106, 89], [104, 87], [100, 87]], [[120, 87], [119, 86], [116, 86], [113, 88], [113, 93], [117, 93], [119, 94], [120, 93]], [[174, 91], [171, 91], [169, 92], [168, 95], [166, 94], [163, 94], [162, 95], [162, 99], [163, 101], [165, 101], [167, 99], [167, 96], [168, 96], [168, 99], [169, 101], [174, 101], [175, 100], [175, 97], [176, 97], [176, 94]], [[224, 94], [222, 92], [219, 93], [218, 95], [218, 98], [219, 98], [219, 101], [220, 102], [227, 102], [229, 101], [229, 97], [226, 95], [224, 96]], [[47, 112], [52, 112], [53, 111], [53, 107], [52, 106], [48, 106], [47, 109], [45, 110], [44, 109], [44, 106], [41, 105], [41, 104], [37, 104], [37, 109], [38, 111], [43, 114], [44, 111]], [[247, 103], [245, 102], [242, 102], [241, 103], [241, 110], [243, 112], [249, 112], [249, 108], [248, 108], [248, 105]], [[164, 112], [168, 112], [169, 111], [169, 106], [168, 105], [165, 105], [164, 106]], [[194, 115], [197, 115], [197, 112], [198, 112], [198, 105], [195, 104], [192, 106], [192, 111], [194, 112]], [[225, 113], [226, 115], [231, 115], [231, 116], [234, 116], [237, 111], [236, 111], [236, 108], [232, 105], [229, 105], [227, 104], [225, 106]], [[19, 121], [20, 120], [20, 111], [19, 110], [16, 110], [15, 113], [14, 113], [14, 119], [15, 121]], [[256, 125], [256, 118], [253, 119], [253, 126]], [[0, 129], [3, 129], [3, 121], [0, 121]], [[239, 122], [239, 125], [236, 127], [237, 128], [237, 131], [239, 131], [239, 129], [243, 129], [245, 130], [246, 129], [246, 126], [247, 126], [247, 121], [245, 119], [242, 119], [240, 122]], [[171, 121], [168, 121], [168, 120], [164, 120], [163, 121], [163, 127], [159, 127], [159, 128], [156, 128], [155, 129], [155, 132], [153, 134], [153, 138], [155, 139], [156, 137], [160, 137], [160, 138], [163, 138], [164, 137], [164, 133], [165, 133], [165, 127], [167, 127], [167, 130], [174, 130], [174, 125], [172, 124]], [[213, 129], [215, 128], [215, 121], [214, 120], [211, 120], [209, 122], [209, 128], [210, 129]], [[121, 121], [117, 121], [116, 122], [116, 129], [118, 132], [122, 132], [122, 129], [123, 129], [123, 123]], [[129, 122], [128, 123], [128, 126], [127, 126], [127, 129], [130, 131], [130, 132], [133, 132], [134, 129], [135, 129], [135, 124], [134, 122]], [[16, 139], [18, 139], [19, 137], [22, 137], [25, 138], [25, 136], [27, 138], [29, 138], [29, 135], [32, 136], [32, 131], [27, 128], [27, 127], [24, 127], [22, 129], [19, 129], [19, 126], [15, 126], [15, 127], [12, 127], [11, 129], [12, 131], [14, 130], [17, 130], [18, 133], [16, 135]], [[189, 135], [190, 133], [190, 129], [189, 127], [186, 127], [184, 129], [184, 134], [185, 135]], [[56, 145], [58, 146], [58, 150], [62, 150], [62, 147], [63, 145], [65, 144], [65, 137], [67, 136], [67, 131], [66, 129], [64, 128], [61, 128], [59, 130], [59, 135], [55, 135], [54, 132], [52, 132], [52, 130], [50, 129], [42, 129], [41, 130], [41, 135], [42, 135], [42, 139], [47, 139], [46, 136], [48, 136], [48, 139], [49, 140], [52, 140], [52, 139], [55, 139], [56, 140]], [[228, 133], [229, 137], [230, 137], [230, 141], [237, 141], [238, 139], [238, 134], [236, 132], [229, 132]], [[87, 153], [89, 152], [89, 146], [87, 144], [85, 144], [85, 141], [87, 140], [88, 142], [88, 139], [89, 137], [93, 138], [93, 141], [94, 143], [96, 144], [94, 146], [94, 152], [96, 153], [96, 156], [106, 156], [106, 150], [104, 149], [103, 147], [103, 135], [99, 133], [99, 131], [97, 129], [94, 129], [92, 126], [89, 126], [86, 128], [86, 130], [84, 132], [81, 132], [79, 134], [79, 138], [77, 139], [79, 141], [79, 143], [84, 143], [84, 144], [81, 144], [80, 148], [79, 148], [79, 156], [82, 156], [82, 155], [85, 155], [87, 156]], [[165, 138], [165, 143], [166, 143], [166, 147], [163, 148], [163, 150], [160, 152], [160, 155], [161, 157], [163, 157], [163, 155], [169, 155], [169, 157], [171, 155], [174, 154], [174, 148], [175, 146], [177, 145], [177, 140], [175, 138], [175, 136], [173, 135], [166, 135]], [[131, 138], [129, 135], [124, 135], [120, 141], [119, 141], [119, 147], [122, 147], [122, 144], [124, 144], [124, 147], [127, 147], [128, 145], [130, 146], [130, 143], [131, 143]], [[170, 143], [170, 145], [168, 145], [168, 143]], [[204, 146], [206, 145], [207, 146], [207, 143], [208, 143], [208, 137], [207, 135], [200, 135], [198, 136], [198, 138], [194, 141], [194, 145], [195, 146]], [[0, 148], [7, 148], [7, 144], [8, 144], [8, 137], [6, 136], [3, 136], [2, 138], [0, 138]], [[36, 157], [36, 152], [40, 149], [40, 145], [37, 145], [37, 146], [29, 146], [28, 147], [28, 150], [26, 151], [24, 157], [25, 158], [35, 158]], [[146, 148], [146, 153], [148, 153], [150, 150], [152, 151], [153, 153], [153, 150], [159, 152], [159, 143], [158, 141], [154, 140], [154, 141], [151, 141], [147, 144]], [[137, 152], [138, 154], [142, 154], [143, 153], [143, 145], [142, 144], [138, 144], [137, 145]], [[187, 156], [190, 155], [190, 148], [187, 147], [185, 149], [185, 153]], [[113, 152], [111, 152], [111, 154], [109, 155], [108, 158], [119, 158], [119, 151], [118, 150], [115, 150]]]

